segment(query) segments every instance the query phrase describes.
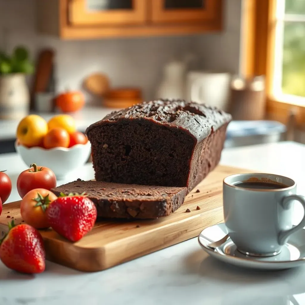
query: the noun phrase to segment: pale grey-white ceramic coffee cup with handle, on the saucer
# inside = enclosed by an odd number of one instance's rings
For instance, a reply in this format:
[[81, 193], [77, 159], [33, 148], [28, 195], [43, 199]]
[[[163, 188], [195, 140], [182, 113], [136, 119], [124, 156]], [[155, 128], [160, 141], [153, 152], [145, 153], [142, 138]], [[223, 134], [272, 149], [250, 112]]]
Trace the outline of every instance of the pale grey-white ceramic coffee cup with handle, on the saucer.
[[[274, 181], [283, 188], [244, 188], [236, 183], [257, 178]], [[299, 201], [305, 210], [305, 198], [296, 195], [296, 182], [274, 174], [235, 174], [224, 178], [224, 221], [237, 249], [247, 255], [272, 256], [280, 253], [289, 236], [305, 226], [292, 226], [292, 202]]]

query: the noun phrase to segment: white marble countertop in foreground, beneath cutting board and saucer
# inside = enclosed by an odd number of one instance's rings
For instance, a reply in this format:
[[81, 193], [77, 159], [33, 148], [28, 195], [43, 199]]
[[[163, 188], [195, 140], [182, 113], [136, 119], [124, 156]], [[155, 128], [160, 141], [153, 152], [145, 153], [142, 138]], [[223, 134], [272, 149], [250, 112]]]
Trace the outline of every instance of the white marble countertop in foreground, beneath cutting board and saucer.
[[[224, 149], [221, 163], [288, 175], [305, 186], [305, 145], [281, 142]], [[8, 168], [8, 164], [11, 167]], [[26, 168], [16, 154], [0, 155], [0, 169], [7, 168], [17, 200], [16, 177]], [[93, 177], [91, 164], [71, 174]], [[59, 181], [59, 184], [66, 181]], [[263, 272], [218, 262], [190, 239], [136, 260], [97, 273], [82, 273], [51, 262], [35, 276], [18, 274], [0, 263], [2, 305], [84, 304], [305, 304], [305, 266]]]

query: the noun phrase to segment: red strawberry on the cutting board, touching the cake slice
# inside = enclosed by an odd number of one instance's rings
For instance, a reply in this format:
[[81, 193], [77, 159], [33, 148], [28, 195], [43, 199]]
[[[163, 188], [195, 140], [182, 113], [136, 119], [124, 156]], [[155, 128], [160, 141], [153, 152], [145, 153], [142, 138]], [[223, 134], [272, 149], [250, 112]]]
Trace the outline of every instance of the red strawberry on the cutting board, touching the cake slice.
[[61, 194], [45, 211], [52, 229], [72, 242], [80, 240], [95, 224], [94, 203], [83, 195]]

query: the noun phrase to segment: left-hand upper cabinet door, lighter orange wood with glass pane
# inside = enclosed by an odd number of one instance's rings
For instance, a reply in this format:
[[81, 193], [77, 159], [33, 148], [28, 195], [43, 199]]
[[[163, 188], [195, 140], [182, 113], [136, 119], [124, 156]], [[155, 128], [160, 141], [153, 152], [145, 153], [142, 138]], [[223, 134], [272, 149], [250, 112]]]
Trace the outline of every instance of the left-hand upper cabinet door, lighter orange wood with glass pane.
[[74, 25], [144, 24], [146, 0], [71, 0], [69, 22]]

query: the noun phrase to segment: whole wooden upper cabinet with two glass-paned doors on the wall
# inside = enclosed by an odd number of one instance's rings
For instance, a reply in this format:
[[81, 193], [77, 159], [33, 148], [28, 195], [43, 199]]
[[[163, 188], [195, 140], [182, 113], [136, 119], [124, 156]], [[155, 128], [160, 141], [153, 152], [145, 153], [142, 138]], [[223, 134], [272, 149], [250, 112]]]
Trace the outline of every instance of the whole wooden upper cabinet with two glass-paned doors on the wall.
[[223, 0], [36, 0], [37, 30], [61, 39], [220, 31]]

